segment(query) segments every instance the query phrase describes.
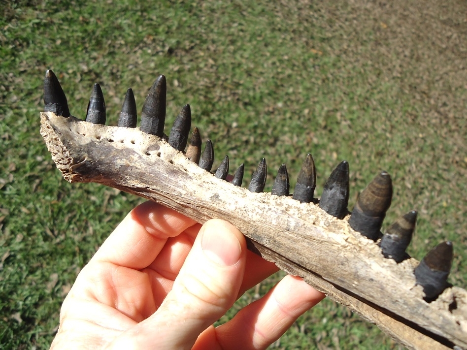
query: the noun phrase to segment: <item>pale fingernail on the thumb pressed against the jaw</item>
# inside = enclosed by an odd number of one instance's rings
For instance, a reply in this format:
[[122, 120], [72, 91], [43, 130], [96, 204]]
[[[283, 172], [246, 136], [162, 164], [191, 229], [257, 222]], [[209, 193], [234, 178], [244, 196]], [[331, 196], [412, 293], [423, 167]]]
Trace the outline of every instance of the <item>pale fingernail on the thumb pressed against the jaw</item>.
[[240, 242], [234, 234], [212, 229], [203, 232], [201, 248], [210, 260], [221, 266], [234, 265], [241, 255]]

